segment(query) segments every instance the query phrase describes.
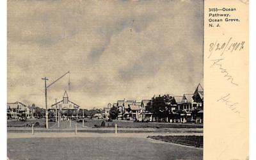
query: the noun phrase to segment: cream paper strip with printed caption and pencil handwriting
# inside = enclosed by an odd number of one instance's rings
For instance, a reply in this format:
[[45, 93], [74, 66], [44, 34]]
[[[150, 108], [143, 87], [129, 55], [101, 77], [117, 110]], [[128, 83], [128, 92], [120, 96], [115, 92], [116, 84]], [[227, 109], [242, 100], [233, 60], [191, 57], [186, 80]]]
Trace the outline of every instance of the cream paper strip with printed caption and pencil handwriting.
[[204, 159], [248, 158], [248, 1], [205, 1]]

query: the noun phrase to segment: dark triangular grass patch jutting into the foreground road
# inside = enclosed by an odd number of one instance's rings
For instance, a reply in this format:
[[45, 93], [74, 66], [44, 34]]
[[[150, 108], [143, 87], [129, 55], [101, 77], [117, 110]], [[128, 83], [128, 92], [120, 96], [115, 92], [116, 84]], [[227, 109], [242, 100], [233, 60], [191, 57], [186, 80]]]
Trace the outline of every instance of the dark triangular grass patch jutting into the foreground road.
[[148, 136], [154, 140], [166, 141], [170, 143], [178, 143], [180, 145], [188, 145], [198, 148], [204, 147], [203, 136]]

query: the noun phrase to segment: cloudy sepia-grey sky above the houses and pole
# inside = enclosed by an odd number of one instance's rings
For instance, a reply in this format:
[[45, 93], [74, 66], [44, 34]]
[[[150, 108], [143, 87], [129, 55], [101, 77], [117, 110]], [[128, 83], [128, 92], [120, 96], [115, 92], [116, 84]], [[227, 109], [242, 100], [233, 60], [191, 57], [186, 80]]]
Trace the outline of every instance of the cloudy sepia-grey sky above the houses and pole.
[[[81, 108], [193, 93], [204, 77], [204, 2], [8, 1], [8, 102]], [[68, 81], [70, 79], [70, 88]]]

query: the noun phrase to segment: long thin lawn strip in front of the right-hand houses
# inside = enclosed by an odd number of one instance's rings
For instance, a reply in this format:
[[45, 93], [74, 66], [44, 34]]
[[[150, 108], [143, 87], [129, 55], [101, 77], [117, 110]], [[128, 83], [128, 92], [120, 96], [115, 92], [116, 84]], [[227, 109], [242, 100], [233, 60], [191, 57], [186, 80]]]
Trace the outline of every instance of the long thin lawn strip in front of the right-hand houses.
[[[86, 120], [84, 125], [88, 127], [100, 127], [103, 120]], [[119, 128], [203, 128], [203, 125], [193, 124], [167, 124], [167, 123], [152, 123], [152, 122], [129, 122], [129, 121], [113, 121], [105, 122], [105, 127], [117, 127]]]

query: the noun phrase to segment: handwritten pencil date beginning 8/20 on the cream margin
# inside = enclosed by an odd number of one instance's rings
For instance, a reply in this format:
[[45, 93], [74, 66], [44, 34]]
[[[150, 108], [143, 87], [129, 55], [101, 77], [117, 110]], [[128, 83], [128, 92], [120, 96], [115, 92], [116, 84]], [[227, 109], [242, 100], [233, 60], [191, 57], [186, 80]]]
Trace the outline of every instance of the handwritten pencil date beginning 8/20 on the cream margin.
[[230, 51], [241, 51], [241, 49], [244, 48], [244, 41], [241, 42], [232, 42], [232, 37], [229, 38], [228, 42], [223, 42], [223, 43], [219, 43], [218, 40], [216, 40], [215, 43], [211, 43], [209, 45], [209, 56], [208, 58], [210, 58], [212, 56], [212, 52], [217, 52], [220, 51], [220, 56], [222, 56], [224, 54], [224, 52]]

